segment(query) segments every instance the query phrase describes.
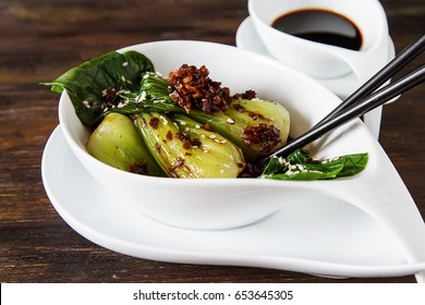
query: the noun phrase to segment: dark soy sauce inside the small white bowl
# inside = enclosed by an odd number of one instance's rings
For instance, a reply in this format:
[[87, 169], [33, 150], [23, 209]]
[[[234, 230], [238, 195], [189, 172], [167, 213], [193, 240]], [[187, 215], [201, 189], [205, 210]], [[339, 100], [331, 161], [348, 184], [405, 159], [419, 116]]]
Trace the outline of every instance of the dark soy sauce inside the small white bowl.
[[300, 38], [350, 50], [359, 51], [362, 46], [359, 27], [348, 17], [331, 11], [293, 11], [279, 16], [271, 26]]

